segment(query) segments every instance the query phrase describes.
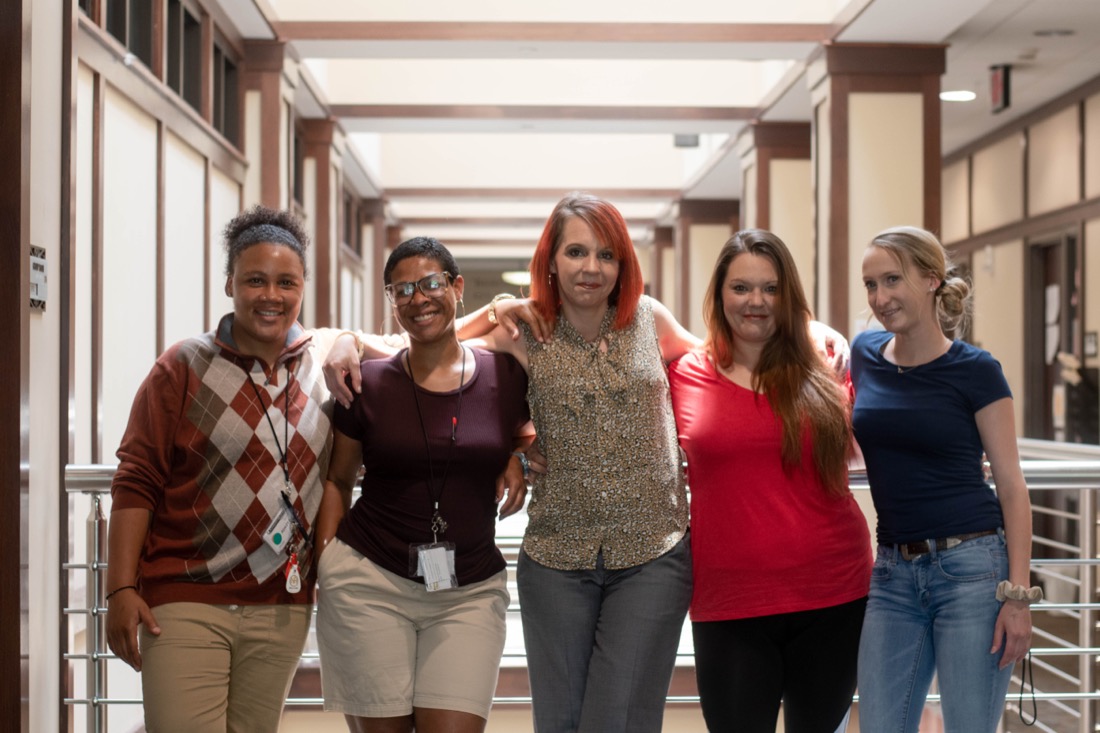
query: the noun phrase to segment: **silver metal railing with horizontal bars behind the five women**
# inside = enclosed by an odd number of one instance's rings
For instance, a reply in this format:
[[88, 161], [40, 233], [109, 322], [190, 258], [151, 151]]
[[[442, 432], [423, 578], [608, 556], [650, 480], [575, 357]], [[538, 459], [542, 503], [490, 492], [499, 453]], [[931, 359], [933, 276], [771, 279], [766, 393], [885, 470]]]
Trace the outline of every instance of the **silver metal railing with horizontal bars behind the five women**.
[[[1097, 492], [1100, 490], [1100, 447], [1021, 440], [1021, 464], [1031, 490], [1035, 515], [1033, 573], [1046, 592], [1046, 600], [1035, 604], [1035, 631], [1032, 646], [1036, 671], [1034, 700], [1038, 721], [1031, 730], [1050, 733], [1091, 732], [1100, 722], [1100, 690], [1097, 687], [1097, 661], [1100, 638], [1096, 631], [1100, 597], [1097, 594], [1096, 566], [1100, 565], [1097, 546]], [[70, 516], [86, 512], [82, 524], [74, 518], [69, 561], [69, 598], [64, 613], [68, 620], [64, 659], [69, 665], [70, 696], [65, 704], [74, 711], [72, 730], [100, 733], [108, 727], [108, 710], [117, 713], [130, 709], [130, 716], [140, 720], [140, 680], [108, 649], [106, 637], [107, 589], [107, 508], [113, 466], [69, 466], [65, 488], [70, 499]], [[867, 477], [853, 471], [849, 484], [854, 492], [868, 490]], [[526, 655], [519, 628], [519, 605], [515, 589], [515, 562], [522, 536], [522, 522], [501, 523], [497, 543], [508, 562], [509, 592], [513, 602], [507, 611], [508, 643], [502, 659], [502, 677], [509, 670], [526, 671]], [[81, 532], [82, 528], [82, 532]], [[82, 538], [82, 541], [81, 539]], [[78, 549], [82, 547], [82, 550]], [[678, 668], [692, 666], [691, 634], [682, 635]], [[287, 698], [288, 710], [317, 709], [322, 704], [316, 683], [319, 658], [314, 632], [310, 631], [299, 664], [296, 682]], [[1019, 672], [1019, 668], [1016, 670]], [[522, 675], [526, 679], [526, 675]], [[314, 683], [298, 685], [298, 678]], [[110, 683], [109, 683], [110, 682]], [[1019, 713], [1021, 680], [1013, 678], [1008, 696], [1005, 719]], [[502, 690], [502, 687], [508, 687]], [[118, 688], [118, 689], [117, 689]], [[526, 689], [516, 685], [498, 686], [494, 705], [530, 703]], [[79, 692], [82, 690], [82, 693]], [[698, 697], [673, 690], [669, 705], [695, 705]], [[1030, 715], [1032, 693], [1024, 700], [1024, 713]], [[937, 703], [935, 688], [928, 701]], [[858, 694], [856, 697], [858, 702]], [[81, 714], [82, 713], [82, 714]], [[124, 715], [124, 714], [123, 714]], [[78, 719], [82, 718], [81, 726]], [[1005, 730], [1015, 730], [1008, 727]]]

